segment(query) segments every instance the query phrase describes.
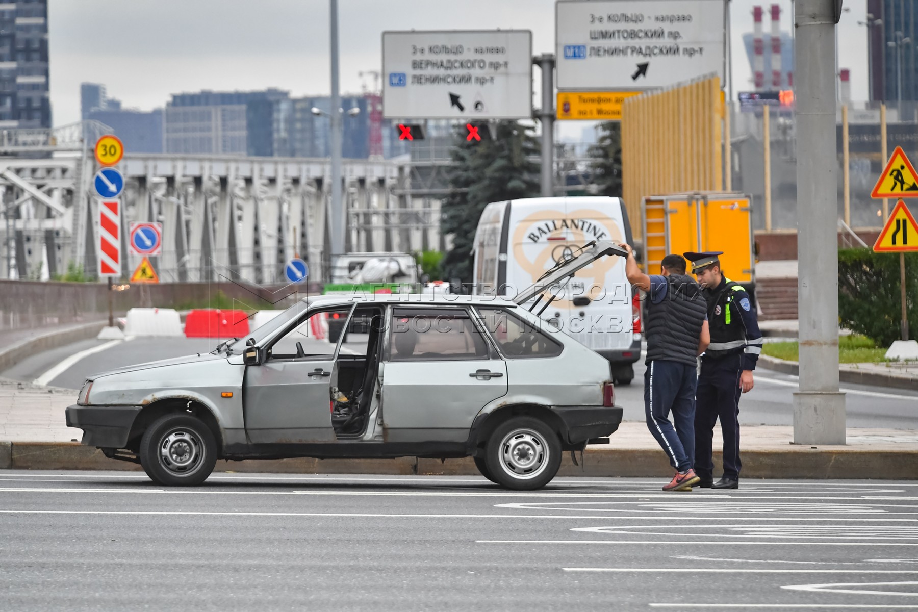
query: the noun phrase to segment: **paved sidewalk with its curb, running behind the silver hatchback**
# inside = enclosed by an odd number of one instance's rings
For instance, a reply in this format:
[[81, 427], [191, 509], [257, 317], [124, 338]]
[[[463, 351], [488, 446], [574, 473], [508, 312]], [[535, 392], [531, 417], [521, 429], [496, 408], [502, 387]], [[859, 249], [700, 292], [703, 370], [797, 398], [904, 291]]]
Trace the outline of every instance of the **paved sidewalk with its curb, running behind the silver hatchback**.
[[[46, 470], [137, 470], [129, 462], [106, 459], [85, 447], [82, 430], [64, 424], [64, 409], [77, 391], [0, 379], [0, 468]], [[849, 428], [845, 446], [791, 444], [790, 426], [744, 426], [747, 478], [905, 478], [918, 474], [918, 430]], [[714, 447], [722, 445], [715, 428]], [[715, 450], [715, 462], [720, 451]], [[397, 460], [315, 460], [218, 462], [218, 471], [262, 473], [442, 473], [477, 474], [471, 459], [406, 457]], [[561, 475], [666, 476], [666, 456], [644, 422], [625, 422], [610, 444], [594, 445], [584, 464], [565, 453]]]

